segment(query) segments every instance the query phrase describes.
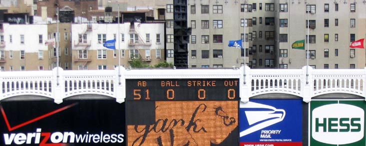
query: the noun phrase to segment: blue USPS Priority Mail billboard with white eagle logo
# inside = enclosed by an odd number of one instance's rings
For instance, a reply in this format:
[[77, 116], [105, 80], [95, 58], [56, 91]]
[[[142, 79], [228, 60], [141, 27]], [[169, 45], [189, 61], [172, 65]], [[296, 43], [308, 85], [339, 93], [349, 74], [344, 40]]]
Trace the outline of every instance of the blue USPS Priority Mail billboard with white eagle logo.
[[302, 146], [302, 101], [240, 103], [240, 146]]

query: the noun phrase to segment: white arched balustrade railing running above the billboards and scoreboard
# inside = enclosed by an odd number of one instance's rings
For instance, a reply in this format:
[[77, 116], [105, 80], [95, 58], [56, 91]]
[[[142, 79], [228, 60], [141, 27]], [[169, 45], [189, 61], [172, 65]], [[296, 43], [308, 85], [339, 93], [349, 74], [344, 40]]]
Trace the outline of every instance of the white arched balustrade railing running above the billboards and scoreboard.
[[[242, 102], [250, 97], [283, 93], [303, 98], [329, 93], [347, 93], [366, 96], [365, 69], [250, 69], [244, 67], [226, 69], [124, 69], [115, 70], [59, 70], [57, 85], [56, 68], [52, 71], [0, 72], [0, 100], [19, 96], [37, 95], [61, 103], [64, 98], [81, 94], [98, 94], [124, 102], [125, 79], [199, 79], [238, 78]], [[118, 83], [121, 84], [118, 84]]]

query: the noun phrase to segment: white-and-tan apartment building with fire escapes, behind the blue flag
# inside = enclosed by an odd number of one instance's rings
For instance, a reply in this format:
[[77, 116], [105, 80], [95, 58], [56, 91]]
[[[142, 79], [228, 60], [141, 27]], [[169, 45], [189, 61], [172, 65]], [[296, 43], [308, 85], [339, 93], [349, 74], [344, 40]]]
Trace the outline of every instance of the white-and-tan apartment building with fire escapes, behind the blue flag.
[[[114, 69], [118, 60], [121, 66], [129, 67], [132, 57], [149, 65], [164, 59], [164, 23], [72, 24], [71, 32], [73, 70]], [[103, 42], [112, 39], [116, 40], [115, 50], [103, 47]]]

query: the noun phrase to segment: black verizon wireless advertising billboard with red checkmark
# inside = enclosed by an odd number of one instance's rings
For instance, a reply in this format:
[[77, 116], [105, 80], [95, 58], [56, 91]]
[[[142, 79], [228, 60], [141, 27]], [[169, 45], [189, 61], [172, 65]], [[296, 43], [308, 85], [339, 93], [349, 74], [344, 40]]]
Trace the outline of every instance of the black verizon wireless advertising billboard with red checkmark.
[[124, 103], [1, 102], [1, 146], [125, 146]]

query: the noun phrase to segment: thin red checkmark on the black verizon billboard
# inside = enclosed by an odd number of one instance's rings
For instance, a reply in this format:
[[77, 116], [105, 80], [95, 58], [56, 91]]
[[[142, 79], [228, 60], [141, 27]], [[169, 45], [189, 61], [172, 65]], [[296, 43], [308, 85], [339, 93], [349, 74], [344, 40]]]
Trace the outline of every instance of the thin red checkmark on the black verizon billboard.
[[70, 105], [68, 105], [68, 106], [64, 106], [64, 107], [62, 107], [62, 108], [59, 108], [59, 109], [57, 109], [57, 110], [54, 110], [54, 111], [49, 112], [49, 113], [47, 113], [47, 114], [44, 114], [44, 115], [42, 115], [42, 116], [36, 117], [36, 118], [34, 118], [34, 119], [32, 119], [32, 120], [26, 121], [26, 122], [24, 122], [24, 123], [21, 123], [21, 124], [19, 124], [19, 125], [14, 126], [14, 127], [10, 127], [9, 121], [7, 120], [7, 116], [6, 116], [5, 111], [4, 111], [4, 109], [2, 108], [2, 106], [0, 106], [0, 109], [1, 109], [2, 117], [4, 118], [5, 124], [6, 124], [6, 126], [7, 126], [7, 129], [9, 130], [9, 132], [11, 132], [11, 131], [13, 131], [13, 130], [15, 130], [15, 129], [21, 128], [21, 127], [26, 126], [26, 125], [28, 125], [28, 124], [30, 124], [30, 123], [33, 123], [33, 122], [39, 121], [39, 120], [41, 120], [41, 119], [43, 119], [43, 118], [49, 117], [49, 116], [51, 116], [51, 115], [54, 115], [54, 114], [59, 113], [59, 112], [61, 112], [61, 111], [63, 111], [63, 110], [66, 110], [66, 109], [68, 109], [68, 108], [71, 108], [71, 107], [73, 107], [73, 106], [75, 106], [75, 105], [77, 105], [77, 103], [73, 103], [73, 104], [70, 104]]

